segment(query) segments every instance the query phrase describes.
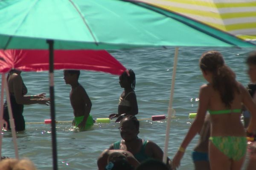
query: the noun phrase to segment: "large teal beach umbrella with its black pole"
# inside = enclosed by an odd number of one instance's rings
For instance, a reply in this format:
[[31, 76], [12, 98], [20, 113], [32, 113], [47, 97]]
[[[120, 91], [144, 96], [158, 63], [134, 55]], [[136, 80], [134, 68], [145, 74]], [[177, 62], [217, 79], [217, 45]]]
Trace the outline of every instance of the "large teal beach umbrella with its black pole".
[[2, 0], [0, 21], [0, 49], [49, 49], [54, 170], [58, 168], [54, 49], [255, 47], [231, 34], [178, 14], [127, 0]]

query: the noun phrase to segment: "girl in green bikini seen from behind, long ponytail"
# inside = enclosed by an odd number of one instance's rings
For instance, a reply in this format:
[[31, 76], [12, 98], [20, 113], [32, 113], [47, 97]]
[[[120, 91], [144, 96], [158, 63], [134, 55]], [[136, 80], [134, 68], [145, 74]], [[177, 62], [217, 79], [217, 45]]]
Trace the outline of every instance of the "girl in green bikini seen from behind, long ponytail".
[[208, 110], [211, 121], [211, 170], [240, 170], [247, 149], [246, 132], [240, 118], [241, 103], [252, 113], [247, 133], [256, 129], [256, 105], [248, 91], [236, 81], [235, 73], [225, 65], [218, 51], [204, 53], [199, 65], [209, 83], [200, 88], [197, 116], [172, 160], [173, 166], [180, 165], [186, 147], [201, 130]]

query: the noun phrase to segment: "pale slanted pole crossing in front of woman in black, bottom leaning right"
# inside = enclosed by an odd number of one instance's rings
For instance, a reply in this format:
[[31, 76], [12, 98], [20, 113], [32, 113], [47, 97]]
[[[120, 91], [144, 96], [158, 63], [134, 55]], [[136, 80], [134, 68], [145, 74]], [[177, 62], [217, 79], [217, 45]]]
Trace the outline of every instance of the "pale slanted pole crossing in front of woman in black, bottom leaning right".
[[8, 112], [9, 112], [9, 122], [12, 130], [12, 140], [14, 144], [14, 149], [15, 149], [15, 158], [19, 159], [19, 154], [18, 154], [18, 147], [17, 147], [17, 137], [16, 137], [16, 131], [15, 131], [15, 123], [13, 119], [13, 114], [12, 114], [12, 105], [11, 105], [11, 100], [10, 100], [10, 93], [9, 93], [9, 87], [7, 85], [7, 80], [5, 77], [5, 74], [3, 74], [2, 81], [4, 82], [4, 87], [6, 89], [6, 101], [7, 101], [7, 107], [8, 107]]

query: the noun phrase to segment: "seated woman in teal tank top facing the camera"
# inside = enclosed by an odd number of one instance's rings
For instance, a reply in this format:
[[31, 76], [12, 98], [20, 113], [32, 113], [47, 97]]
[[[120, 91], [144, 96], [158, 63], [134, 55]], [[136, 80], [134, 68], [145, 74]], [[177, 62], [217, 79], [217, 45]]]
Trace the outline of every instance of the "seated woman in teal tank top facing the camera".
[[[135, 116], [125, 116], [120, 123], [121, 141], [111, 144], [108, 150], [126, 150], [133, 154], [139, 162], [143, 162], [148, 158], [157, 159], [162, 161], [163, 150], [154, 142], [140, 139], [138, 137], [140, 123]], [[107, 164], [107, 158], [103, 158], [104, 151], [98, 159], [98, 168], [104, 167]], [[170, 164], [168, 158], [168, 164]]]

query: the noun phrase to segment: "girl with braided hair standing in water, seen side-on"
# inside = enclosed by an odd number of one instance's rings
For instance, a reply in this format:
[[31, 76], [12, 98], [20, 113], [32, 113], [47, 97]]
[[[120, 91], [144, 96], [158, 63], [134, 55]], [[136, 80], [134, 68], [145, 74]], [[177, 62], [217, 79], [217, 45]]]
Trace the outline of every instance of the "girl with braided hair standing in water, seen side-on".
[[118, 114], [113, 113], [109, 115], [110, 119], [117, 117], [116, 122], [121, 121], [125, 115], [138, 114], [137, 97], [134, 91], [136, 84], [134, 71], [131, 69], [124, 71], [121, 76], [119, 76], [119, 84], [121, 88], [124, 88], [125, 90], [119, 98]]

